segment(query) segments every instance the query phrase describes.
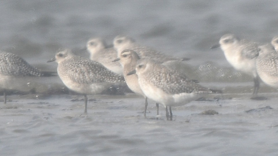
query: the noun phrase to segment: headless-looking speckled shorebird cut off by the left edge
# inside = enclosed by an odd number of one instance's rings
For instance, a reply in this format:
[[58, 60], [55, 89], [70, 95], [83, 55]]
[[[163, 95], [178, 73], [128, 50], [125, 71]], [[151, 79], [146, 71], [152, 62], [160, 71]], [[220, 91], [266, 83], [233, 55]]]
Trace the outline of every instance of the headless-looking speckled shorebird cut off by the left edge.
[[0, 52], [0, 89], [4, 91], [4, 104], [7, 102], [7, 91], [17, 90], [35, 76], [56, 76], [56, 73], [41, 71], [15, 54]]

